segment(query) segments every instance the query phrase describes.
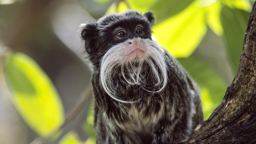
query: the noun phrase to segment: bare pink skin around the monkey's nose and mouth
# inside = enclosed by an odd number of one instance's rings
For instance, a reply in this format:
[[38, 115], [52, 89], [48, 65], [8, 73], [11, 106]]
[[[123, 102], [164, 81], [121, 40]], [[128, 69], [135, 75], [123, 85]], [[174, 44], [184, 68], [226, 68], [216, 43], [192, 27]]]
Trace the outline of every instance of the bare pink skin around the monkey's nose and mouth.
[[146, 47], [140, 42], [140, 38], [128, 40], [124, 48], [124, 57], [132, 60], [136, 57], [145, 57]]

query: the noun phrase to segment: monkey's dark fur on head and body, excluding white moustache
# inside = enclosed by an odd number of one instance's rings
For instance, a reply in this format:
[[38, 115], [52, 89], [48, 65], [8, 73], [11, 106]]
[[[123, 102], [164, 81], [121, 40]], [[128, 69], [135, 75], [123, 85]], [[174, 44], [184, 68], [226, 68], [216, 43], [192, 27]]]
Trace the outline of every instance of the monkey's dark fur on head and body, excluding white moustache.
[[[121, 14], [111, 14], [99, 19], [97, 22], [82, 27], [82, 37], [85, 41], [87, 61], [92, 68], [92, 86], [94, 93], [94, 126], [96, 130], [96, 143], [145, 143], [166, 144], [180, 143], [188, 139], [192, 131], [188, 130], [188, 121], [192, 119], [193, 128], [203, 121], [199, 90], [180, 64], [165, 52], [168, 67], [168, 82], [160, 93], [148, 93], [138, 85], [129, 85], [120, 77], [117, 69], [115, 83], [119, 96], [125, 101], [135, 103], [122, 103], [112, 99], [100, 87], [100, 60], [112, 45], [124, 42], [127, 39], [140, 37], [151, 39], [151, 24], [154, 21], [152, 12], [144, 15], [136, 11], [126, 11]], [[138, 24], [144, 27], [143, 35], [129, 33], [125, 39], [117, 40], [113, 30], [123, 27], [133, 29]], [[149, 67], [144, 66], [147, 72]], [[146, 75], [148, 84], [154, 83], [150, 73]], [[148, 86], [147, 86], [148, 87]], [[189, 117], [192, 112], [191, 103], [195, 105], [196, 114]], [[161, 106], [164, 113], [157, 121], [135, 129], [137, 123], [132, 123], [129, 117], [130, 109], [141, 112], [138, 117], [153, 117], [160, 113]], [[136, 115], [136, 113], [135, 113]], [[156, 123], [154, 125], [154, 122]], [[128, 124], [127, 124], [128, 123]], [[132, 124], [131, 124], [132, 123]], [[153, 124], [153, 125], [152, 125]], [[134, 127], [127, 127], [135, 125]], [[125, 127], [122, 128], [122, 126]]]

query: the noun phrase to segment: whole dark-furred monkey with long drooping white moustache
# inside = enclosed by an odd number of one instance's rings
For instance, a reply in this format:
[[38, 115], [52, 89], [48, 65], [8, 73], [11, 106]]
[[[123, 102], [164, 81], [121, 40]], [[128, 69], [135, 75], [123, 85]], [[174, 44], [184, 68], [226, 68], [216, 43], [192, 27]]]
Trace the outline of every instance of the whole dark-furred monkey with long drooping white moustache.
[[81, 25], [97, 144], [182, 143], [203, 121], [200, 90], [152, 40], [154, 21], [127, 10]]

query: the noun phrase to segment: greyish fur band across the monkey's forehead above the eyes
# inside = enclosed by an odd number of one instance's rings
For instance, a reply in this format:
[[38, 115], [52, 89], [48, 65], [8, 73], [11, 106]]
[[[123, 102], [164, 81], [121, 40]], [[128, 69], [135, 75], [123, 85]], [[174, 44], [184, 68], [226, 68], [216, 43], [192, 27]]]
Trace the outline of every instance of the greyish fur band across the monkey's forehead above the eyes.
[[100, 18], [98, 21], [98, 26], [100, 27], [108, 27], [108, 26], [113, 26], [115, 24], [119, 25], [122, 23], [125, 23], [126, 25], [131, 23], [131, 24], [136, 24], [136, 23], [145, 23], [147, 25], [150, 24], [148, 19], [139, 13], [138, 11], [133, 11], [133, 10], [127, 10], [122, 13], [112, 13], [109, 15], [106, 15], [102, 18]]

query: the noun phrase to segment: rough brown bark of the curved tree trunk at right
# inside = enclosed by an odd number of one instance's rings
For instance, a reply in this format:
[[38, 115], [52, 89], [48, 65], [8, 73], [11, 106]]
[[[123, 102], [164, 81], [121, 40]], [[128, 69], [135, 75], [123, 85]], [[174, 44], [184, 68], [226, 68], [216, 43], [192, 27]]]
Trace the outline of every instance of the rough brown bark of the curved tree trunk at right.
[[187, 143], [256, 143], [256, 2], [237, 75], [221, 104], [197, 126]]

